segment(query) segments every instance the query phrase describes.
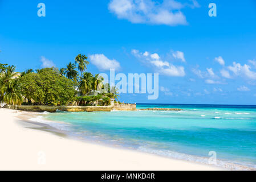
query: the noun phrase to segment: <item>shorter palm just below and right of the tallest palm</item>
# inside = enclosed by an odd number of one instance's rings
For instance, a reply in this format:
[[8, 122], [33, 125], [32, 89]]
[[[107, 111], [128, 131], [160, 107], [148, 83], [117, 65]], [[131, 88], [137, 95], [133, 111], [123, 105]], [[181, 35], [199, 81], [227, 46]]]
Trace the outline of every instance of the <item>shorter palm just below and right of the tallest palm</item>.
[[83, 76], [80, 78], [78, 88], [80, 92], [82, 92], [82, 94], [87, 94], [91, 91], [93, 78], [94, 77], [90, 72], [84, 73]]

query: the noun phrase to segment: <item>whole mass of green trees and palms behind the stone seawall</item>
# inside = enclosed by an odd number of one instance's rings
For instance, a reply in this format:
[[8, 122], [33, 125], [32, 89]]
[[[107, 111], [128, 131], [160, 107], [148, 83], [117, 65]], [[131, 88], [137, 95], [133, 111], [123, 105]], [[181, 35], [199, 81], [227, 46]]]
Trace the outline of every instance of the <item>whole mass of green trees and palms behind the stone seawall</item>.
[[[104, 85], [99, 74], [94, 76], [87, 72], [88, 64], [87, 56], [82, 54], [66, 68], [43, 68], [35, 72], [26, 69], [18, 73], [14, 65], [0, 63], [0, 102], [9, 105], [110, 105], [111, 98], [118, 101], [117, 89]], [[90, 96], [96, 90], [97, 95]]]

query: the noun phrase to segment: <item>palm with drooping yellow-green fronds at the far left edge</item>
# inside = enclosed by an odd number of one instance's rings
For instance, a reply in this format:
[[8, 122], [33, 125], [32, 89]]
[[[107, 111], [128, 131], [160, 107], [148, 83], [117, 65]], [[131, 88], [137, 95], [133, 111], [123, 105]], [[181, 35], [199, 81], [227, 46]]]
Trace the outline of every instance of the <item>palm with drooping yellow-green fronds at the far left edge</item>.
[[20, 105], [22, 103], [22, 95], [19, 89], [17, 73], [14, 72], [14, 65], [6, 68], [4, 74], [0, 77], [0, 101], [6, 104]]

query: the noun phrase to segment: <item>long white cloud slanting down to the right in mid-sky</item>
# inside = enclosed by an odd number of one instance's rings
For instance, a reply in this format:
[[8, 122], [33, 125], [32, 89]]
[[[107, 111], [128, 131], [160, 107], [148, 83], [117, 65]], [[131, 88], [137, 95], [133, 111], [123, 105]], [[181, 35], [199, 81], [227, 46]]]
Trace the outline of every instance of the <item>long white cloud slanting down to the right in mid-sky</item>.
[[148, 56], [149, 52], [145, 54], [145, 52], [141, 53], [136, 49], [132, 49], [132, 54], [143, 61], [143, 63], [153, 66], [155, 71], [162, 75], [174, 77], [183, 77], [186, 75], [184, 67], [175, 66], [170, 64], [168, 61], [162, 61], [161, 57], [157, 53], [153, 53], [151, 56]]

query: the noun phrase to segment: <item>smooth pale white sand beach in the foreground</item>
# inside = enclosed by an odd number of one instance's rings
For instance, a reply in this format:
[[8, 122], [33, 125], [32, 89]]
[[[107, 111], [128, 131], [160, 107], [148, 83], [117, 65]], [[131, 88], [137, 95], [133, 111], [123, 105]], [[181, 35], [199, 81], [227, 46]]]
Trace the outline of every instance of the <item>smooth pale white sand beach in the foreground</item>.
[[[33, 113], [0, 109], [0, 170], [220, 170], [60, 137], [19, 125]], [[45, 158], [44, 158], [45, 155]], [[45, 163], [44, 163], [45, 159]]]

